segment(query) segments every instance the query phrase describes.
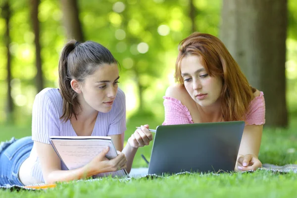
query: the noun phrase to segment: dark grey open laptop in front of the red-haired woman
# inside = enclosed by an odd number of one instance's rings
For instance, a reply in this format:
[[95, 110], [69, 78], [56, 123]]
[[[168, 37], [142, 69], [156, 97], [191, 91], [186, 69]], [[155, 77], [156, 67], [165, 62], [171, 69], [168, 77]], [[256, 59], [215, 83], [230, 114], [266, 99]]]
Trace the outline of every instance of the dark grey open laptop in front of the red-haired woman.
[[234, 171], [244, 128], [244, 121], [158, 126], [148, 174]]

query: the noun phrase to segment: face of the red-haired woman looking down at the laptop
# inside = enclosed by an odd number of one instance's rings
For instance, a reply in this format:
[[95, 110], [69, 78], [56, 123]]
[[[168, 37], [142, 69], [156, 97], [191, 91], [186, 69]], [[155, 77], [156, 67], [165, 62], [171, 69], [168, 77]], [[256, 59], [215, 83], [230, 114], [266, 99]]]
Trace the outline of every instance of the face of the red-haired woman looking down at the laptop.
[[200, 106], [211, 106], [218, 101], [223, 86], [222, 80], [207, 74], [200, 56], [185, 56], [180, 69], [185, 88], [194, 101]]

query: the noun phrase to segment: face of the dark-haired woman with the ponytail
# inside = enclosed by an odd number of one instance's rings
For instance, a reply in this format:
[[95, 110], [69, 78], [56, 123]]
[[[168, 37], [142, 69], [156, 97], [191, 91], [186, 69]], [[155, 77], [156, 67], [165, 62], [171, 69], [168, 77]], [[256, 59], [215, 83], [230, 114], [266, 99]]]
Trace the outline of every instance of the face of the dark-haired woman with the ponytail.
[[87, 76], [81, 86], [81, 103], [106, 113], [111, 110], [118, 89], [119, 70], [116, 63], [102, 64]]

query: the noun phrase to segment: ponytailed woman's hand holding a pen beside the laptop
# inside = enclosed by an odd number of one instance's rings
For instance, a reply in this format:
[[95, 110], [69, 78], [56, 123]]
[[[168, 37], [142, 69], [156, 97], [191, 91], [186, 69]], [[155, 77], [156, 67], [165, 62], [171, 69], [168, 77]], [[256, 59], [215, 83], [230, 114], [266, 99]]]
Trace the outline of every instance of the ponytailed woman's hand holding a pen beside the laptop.
[[134, 134], [128, 139], [128, 143], [131, 147], [139, 148], [149, 145], [149, 142], [152, 141], [152, 134], [148, 131], [148, 124], [142, 125], [140, 129], [137, 129]]

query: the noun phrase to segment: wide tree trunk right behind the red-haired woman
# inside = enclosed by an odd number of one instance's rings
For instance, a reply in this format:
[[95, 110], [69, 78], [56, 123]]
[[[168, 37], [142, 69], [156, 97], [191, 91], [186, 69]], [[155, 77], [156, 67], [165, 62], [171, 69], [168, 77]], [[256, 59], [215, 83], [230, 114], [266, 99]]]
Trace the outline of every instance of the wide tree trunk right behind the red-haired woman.
[[264, 92], [266, 126], [286, 127], [287, 0], [223, 0], [220, 38], [251, 86]]

